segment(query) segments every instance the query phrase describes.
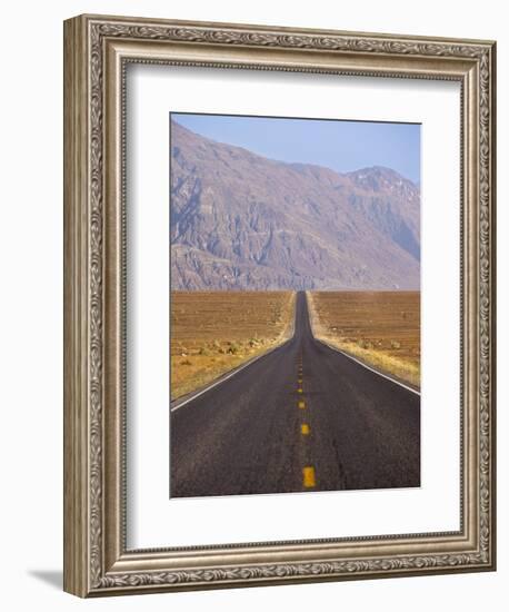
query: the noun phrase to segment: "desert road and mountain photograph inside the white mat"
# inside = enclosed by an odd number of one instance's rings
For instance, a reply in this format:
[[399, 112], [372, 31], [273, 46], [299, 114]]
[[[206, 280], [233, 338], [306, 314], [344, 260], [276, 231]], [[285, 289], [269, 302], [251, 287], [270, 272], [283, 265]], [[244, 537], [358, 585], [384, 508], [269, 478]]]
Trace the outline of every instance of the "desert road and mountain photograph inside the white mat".
[[421, 126], [170, 112], [170, 499], [419, 487]]

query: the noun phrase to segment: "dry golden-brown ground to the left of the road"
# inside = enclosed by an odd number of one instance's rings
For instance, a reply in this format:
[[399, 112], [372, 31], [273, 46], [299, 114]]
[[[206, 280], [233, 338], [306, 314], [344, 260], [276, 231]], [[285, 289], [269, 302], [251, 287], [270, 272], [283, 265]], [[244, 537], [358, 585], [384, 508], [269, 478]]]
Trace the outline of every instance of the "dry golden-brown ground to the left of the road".
[[293, 292], [172, 292], [171, 399], [281, 344]]

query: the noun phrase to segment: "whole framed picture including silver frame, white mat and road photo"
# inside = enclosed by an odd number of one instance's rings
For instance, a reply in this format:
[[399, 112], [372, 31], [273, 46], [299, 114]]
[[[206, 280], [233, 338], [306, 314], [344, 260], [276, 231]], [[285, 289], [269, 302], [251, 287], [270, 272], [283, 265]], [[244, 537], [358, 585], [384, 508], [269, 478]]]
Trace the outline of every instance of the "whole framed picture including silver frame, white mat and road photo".
[[492, 41], [64, 22], [64, 590], [495, 569]]

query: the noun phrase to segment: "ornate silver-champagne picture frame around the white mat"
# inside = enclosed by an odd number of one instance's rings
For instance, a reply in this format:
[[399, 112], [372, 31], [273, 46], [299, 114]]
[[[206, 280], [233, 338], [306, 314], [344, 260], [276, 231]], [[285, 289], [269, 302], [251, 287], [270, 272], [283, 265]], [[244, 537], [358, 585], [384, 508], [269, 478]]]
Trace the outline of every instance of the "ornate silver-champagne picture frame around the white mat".
[[[495, 569], [491, 41], [81, 16], [64, 23], [64, 590], [80, 596]], [[128, 551], [123, 124], [128, 62], [452, 79], [462, 89], [461, 529]]]

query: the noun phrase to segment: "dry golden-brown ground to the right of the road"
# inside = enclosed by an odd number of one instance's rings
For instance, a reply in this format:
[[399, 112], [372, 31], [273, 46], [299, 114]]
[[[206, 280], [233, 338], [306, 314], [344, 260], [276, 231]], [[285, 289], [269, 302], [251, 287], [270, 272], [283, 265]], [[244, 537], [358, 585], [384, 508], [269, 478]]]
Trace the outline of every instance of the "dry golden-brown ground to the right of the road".
[[313, 334], [420, 387], [420, 292], [308, 293]]

